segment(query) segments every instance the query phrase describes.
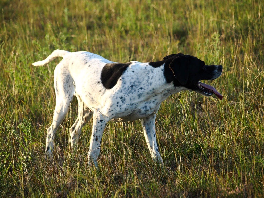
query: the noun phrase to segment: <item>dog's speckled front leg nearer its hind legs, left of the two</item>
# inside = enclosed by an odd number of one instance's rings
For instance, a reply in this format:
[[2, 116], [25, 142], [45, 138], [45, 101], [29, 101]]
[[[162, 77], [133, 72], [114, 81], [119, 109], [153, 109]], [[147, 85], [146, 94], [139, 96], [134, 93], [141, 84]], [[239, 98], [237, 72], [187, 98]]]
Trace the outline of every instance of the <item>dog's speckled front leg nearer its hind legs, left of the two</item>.
[[101, 140], [103, 135], [103, 130], [105, 129], [106, 123], [109, 119], [106, 116], [103, 116], [100, 112], [94, 112], [93, 114], [93, 129], [90, 139], [90, 148], [88, 152], [89, 164], [93, 163], [96, 167], [97, 158], [100, 153]]

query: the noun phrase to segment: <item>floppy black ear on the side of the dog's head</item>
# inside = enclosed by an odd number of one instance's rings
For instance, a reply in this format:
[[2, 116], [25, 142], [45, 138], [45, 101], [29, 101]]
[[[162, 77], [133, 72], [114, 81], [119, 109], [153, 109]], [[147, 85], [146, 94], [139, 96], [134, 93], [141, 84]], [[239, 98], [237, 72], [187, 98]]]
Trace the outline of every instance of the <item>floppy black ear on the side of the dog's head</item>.
[[188, 82], [189, 64], [190, 59], [186, 56], [178, 56], [169, 64], [169, 68], [172, 70], [173, 76], [182, 85], [185, 85]]

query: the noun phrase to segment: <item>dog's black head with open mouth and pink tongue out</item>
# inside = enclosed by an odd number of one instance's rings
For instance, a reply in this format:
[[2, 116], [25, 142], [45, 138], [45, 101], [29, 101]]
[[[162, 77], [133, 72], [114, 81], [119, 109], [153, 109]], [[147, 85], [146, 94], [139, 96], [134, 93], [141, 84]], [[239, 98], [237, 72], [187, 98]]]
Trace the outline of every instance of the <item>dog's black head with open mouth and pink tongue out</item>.
[[213, 93], [220, 99], [223, 96], [216, 89], [201, 80], [214, 80], [218, 78], [223, 70], [222, 65], [205, 65], [205, 63], [190, 55], [171, 54], [163, 58], [165, 61], [164, 76], [167, 82], [174, 86], [183, 86], [205, 96]]

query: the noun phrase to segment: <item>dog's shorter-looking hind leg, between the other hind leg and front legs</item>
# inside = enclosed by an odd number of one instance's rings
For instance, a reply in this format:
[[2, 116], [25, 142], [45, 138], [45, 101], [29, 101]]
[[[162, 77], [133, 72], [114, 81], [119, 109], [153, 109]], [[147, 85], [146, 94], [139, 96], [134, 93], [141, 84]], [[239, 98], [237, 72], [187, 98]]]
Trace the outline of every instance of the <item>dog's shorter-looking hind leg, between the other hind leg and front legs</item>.
[[70, 128], [70, 146], [72, 149], [78, 143], [82, 133], [83, 126], [91, 119], [93, 112], [83, 103], [81, 98], [76, 95], [78, 100], [78, 117], [72, 127]]

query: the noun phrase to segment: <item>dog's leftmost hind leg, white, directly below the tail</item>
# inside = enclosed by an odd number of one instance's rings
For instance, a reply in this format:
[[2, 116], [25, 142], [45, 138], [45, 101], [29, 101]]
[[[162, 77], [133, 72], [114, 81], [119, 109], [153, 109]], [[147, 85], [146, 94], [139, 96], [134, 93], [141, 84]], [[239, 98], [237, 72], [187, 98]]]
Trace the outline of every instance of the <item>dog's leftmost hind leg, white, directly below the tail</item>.
[[[63, 70], [61, 62], [54, 70], [54, 86], [56, 93], [56, 106], [52, 123], [47, 130], [45, 154], [52, 155], [56, 130], [65, 118], [70, 102], [74, 96], [74, 82], [72, 77]], [[64, 67], [65, 68], [65, 67]]]

